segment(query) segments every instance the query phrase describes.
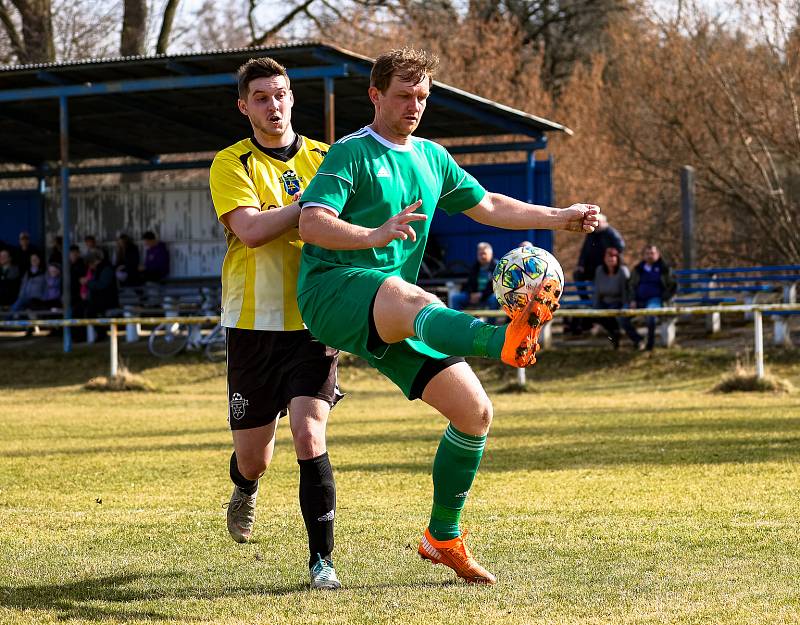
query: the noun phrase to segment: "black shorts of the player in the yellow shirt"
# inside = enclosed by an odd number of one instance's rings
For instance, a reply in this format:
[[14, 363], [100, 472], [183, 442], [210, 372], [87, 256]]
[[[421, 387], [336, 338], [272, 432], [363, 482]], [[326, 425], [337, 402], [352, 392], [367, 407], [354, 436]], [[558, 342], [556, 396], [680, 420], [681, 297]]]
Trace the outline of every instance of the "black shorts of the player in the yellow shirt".
[[308, 330], [225, 328], [228, 351], [228, 423], [232, 430], [267, 425], [286, 414], [295, 397], [333, 407], [339, 392], [338, 350]]

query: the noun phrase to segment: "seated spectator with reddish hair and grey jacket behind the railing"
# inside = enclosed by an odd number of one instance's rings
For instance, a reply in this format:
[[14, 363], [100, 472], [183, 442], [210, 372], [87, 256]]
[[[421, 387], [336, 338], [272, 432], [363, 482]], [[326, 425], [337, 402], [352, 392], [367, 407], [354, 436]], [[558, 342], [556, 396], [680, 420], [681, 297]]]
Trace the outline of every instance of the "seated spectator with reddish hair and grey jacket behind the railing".
[[[628, 280], [630, 271], [622, 262], [620, 252], [615, 247], [606, 248], [603, 264], [597, 268], [594, 276], [594, 308], [601, 310], [619, 310], [628, 304]], [[636, 349], [642, 347], [642, 337], [634, 329], [628, 317], [603, 317], [597, 319], [608, 332], [611, 345], [619, 347], [619, 328], [625, 330]]]

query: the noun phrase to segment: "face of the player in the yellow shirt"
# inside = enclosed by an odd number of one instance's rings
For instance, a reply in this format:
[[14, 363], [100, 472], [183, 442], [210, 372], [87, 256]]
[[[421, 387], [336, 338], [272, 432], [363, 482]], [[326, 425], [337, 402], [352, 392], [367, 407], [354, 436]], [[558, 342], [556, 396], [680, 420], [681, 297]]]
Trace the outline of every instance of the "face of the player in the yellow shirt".
[[291, 138], [293, 105], [294, 96], [283, 76], [250, 81], [247, 100], [239, 100], [239, 110], [266, 147], [282, 147], [282, 140]]

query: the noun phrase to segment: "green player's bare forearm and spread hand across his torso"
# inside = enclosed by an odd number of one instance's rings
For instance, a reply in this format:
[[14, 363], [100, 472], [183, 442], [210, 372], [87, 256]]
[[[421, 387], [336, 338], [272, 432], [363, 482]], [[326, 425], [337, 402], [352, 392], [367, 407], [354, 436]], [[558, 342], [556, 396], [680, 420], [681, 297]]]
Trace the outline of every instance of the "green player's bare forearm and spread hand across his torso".
[[313, 243], [329, 250], [366, 250], [373, 247], [386, 247], [395, 239], [417, 240], [417, 232], [411, 227], [412, 221], [428, 218], [415, 213], [422, 200], [386, 220], [378, 228], [365, 228], [348, 223], [321, 206], [309, 206], [300, 213], [300, 237], [306, 243]]

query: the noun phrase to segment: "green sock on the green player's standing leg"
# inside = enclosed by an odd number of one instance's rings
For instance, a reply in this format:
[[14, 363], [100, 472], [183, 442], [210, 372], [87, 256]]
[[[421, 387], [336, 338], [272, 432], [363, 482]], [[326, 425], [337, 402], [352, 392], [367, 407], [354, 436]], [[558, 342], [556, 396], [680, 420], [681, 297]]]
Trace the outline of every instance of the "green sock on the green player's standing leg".
[[433, 461], [433, 509], [428, 529], [436, 540], [460, 535], [461, 509], [478, 472], [486, 436], [464, 434], [447, 426]]

